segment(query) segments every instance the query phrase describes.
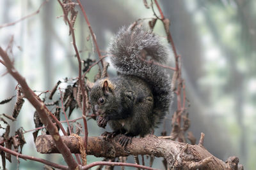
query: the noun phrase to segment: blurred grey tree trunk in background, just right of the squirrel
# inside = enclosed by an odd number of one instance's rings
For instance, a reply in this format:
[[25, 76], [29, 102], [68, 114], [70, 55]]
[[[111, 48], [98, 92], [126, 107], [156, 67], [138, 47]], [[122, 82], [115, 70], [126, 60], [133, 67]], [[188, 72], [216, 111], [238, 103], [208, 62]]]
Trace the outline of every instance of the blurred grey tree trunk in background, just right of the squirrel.
[[[200, 132], [205, 133], [205, 147], [209, 152], [217, 155], [221, 159], [227, 150], [230, 150], [228, 139], [221, 138], [220, 132], [223, 129], [218, 127], [212, 117], [203, 113], [204, 106], [209, 105], [209, 95], [203, 94], [198, 89], [198, 79], [204, 75], [202, 71], [202, 44], [198, 28], [193, 22], [191, 13], [186, 9], [186, 1], [161, 1], [164, 8], [165, 17], [170, 19], [170, 31], [177, 46], [178, 53], [182, 59], [182, 76], [186, 83], [186, 92], [191, 103], [189, 108], [189, 118], [191, 118], [191, 128], [196, 138], [199, 139]], [[214, 129], [214, 130], [213, 130]], [[212, 138], [218, 136], [218, 138]], [[220, 146], [221, 143], [221, 146]], [[224, 148], [226, 148], [224, 150]]]

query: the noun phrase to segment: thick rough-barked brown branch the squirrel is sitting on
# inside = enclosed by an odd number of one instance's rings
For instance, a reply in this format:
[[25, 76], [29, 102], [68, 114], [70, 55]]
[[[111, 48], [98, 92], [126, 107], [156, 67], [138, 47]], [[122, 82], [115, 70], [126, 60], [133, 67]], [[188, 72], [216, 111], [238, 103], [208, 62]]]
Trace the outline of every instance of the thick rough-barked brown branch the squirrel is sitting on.
[[[79, 153], [78, 140], [72, 136], [61, 136], [72, 153]], [[36, 149], [40, 153], [58, 153], [52, 137], [38, 136]], [[150, 136], [147, 138], [132, 138], [131, 145], [122, 148], [118, 144], [118, 136], [105, 140], [102, 137], [89, 137], [87, 154], [95, 157], [126, 157], [128, 155], [154, 155], [164, 157], [170, 167], [182, 169], [230, 169], [225, 162], [214, 157], [204, 146], [188, 145], [167, 139]]]

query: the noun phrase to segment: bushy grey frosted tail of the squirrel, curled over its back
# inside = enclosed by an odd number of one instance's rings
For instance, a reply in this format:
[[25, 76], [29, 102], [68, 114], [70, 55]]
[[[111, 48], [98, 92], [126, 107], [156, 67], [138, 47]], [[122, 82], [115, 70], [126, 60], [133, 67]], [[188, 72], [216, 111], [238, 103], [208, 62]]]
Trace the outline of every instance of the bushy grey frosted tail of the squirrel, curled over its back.
[[141, 27], [122, 27], [109, 46], [111, 62], [122, 74], [135, 75], [152, 88], [154, 120], [157, 126], [168, 113], [171, 103], [170, 76], [162, 67], [149, 64], [147, 58], [164, 63], [168, 58], [166, 46], [159, 37]]

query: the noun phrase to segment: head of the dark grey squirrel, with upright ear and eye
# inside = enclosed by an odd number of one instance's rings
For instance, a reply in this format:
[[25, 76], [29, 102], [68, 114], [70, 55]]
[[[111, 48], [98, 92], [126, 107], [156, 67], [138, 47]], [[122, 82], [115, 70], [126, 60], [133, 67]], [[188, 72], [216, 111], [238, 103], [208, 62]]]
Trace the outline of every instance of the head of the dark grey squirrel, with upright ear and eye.
[[87, 86], [89, 89], [89, 99], [92, 104], [92, 110], [97, 115], [108, 115], [117, 108], [115, 106], [116, 97], [113, 93], [114, 86], [108, 80], [99, 80], [93, 85]]

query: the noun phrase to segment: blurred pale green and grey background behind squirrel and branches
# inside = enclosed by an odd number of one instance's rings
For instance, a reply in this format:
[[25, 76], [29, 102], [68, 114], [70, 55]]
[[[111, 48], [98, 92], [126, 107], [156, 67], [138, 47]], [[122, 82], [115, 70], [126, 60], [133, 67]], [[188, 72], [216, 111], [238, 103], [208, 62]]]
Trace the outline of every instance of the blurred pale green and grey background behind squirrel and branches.
[[[57, 1], [46, 3], [38, 14], [8, 27], [6, 23], [38, 10], [43, 1], [0, 1], [0, 46], [6, 48], [13, 36], [10, 56], [15, 67], [26, 78], [33, 90], [51, 90], [58, 80], [75, 78], [78, 75], [77, 59], [68, 36], [68, 27], [63, 22], [63, 11]], [[129, 25], [139, 18], [152, 18], [152, 9], [145, 8], [143, 1], [83, 0], [92, 29], [97, 37], [102, 55], [106, 54], [108, 43], [122, 25]], [[148, 4], [151, 2], [148, 1]], [[190, 101], [190, 131], [197, 142], [200, 133], [205, 133], [205, 148], [221, 160], [230, 156], [240, 159], [245, 169], [256, 167], [256, 1], [252, 0], [189, 0], [159, 1], [163, 13], [169, 18], [170, 31], [182, 60], [182, 77]], [[78, 9], [78, 8], [77, 8]], [[156, 6], [154, 6], [155, 11]], [[147, 25], [148, 20], [145, 20]], [[90, 32], [81, 13], [76, 21], [76, 42], [81, 57], [97, 59], [92, 39], [86, 39]], [[163, 25], [157, 21], [156, 34], [166, 36]], [[108, 59], [106, 59], [108, 60]], [[170, 55], [170, 66], [173, 66]], [[90, 78], [97, 67], [90, 71]], [[6, 73], [3, 65], [0, 74]], [[109, 69], [110, 74], [115, 71]], [[172, 72], [170, 72], [172, 74]], [[0, 77], [0, 101], [15, 95], [17, 82], [4, 74]], [[61, 83], [61, 87], [67, 83]], [[60, 93], [59, 93], [60, 94]], [[0, 114], [12, 115], [15, 99], [0, 105]], [[11, 122], [11, 135], [20, 126], [34, 129], [35, 109], [25, 101], [17, 121]], [[172, 113], [175, 111], [175, 104]], [[172, 113], [168, 118], [172, 117]], [[81, 117], [76, 110], [70, 119]], [[3, 122], [0, 124], [4, 127]], [[170, 134], [170, 121], [164, 125]], [[161, 132], [157, 129], [156, 134]], [[89, 136], [99, 136], [103, 129], [94, 120], [88, 121]], [[0, 135], [3, 134], [0, 130]], [[25, 134], [26, 145], [22, 153], [42, 157], [52, 162], [65, 164], [59, 154], [36, 153], [32, 132]], [[88, 163], [102, 160], [88, 157]], [[0, 160], [1, 161], [1, 160]], [[132, 159], [128, 160], [133, 162]], [[12, 157], [8, 169], [17, 169], [17, 160]], [[43, 169], [37, 162], [20, 159], [19, 169]], [[164, 169], [161, 159], [153, 167]], [[127, 168], [132, 169], [132, 168]]]

